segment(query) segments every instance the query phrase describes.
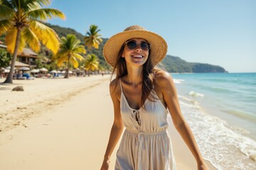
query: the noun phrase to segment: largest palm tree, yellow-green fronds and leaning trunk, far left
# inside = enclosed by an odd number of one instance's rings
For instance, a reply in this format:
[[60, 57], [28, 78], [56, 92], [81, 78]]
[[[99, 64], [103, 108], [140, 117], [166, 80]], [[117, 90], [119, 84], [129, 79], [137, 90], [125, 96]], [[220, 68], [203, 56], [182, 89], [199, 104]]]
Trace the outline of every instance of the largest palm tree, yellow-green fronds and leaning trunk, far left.
[[12, 83], [17, 53], [26, 43], [38, 52], [43, 45], [53, 53], [58, 52], [58, 35], [42, 22], [48, 18], [65, 18], [61, 11], [53, 8], [41, 8], [50, 5], [50, 0], [0, 0], [0, 35], [6, 33], [7, 50], [14, 56], [11, 70], [4, 83]]

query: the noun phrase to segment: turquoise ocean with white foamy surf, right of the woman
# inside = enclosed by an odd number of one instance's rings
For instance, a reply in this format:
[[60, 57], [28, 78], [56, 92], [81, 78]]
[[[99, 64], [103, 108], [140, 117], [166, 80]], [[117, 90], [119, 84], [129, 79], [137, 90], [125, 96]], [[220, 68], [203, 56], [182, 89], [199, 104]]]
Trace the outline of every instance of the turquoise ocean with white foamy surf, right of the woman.
[[256, 73], [171, 74], [203, 157], [217, 169], [256, 169]]

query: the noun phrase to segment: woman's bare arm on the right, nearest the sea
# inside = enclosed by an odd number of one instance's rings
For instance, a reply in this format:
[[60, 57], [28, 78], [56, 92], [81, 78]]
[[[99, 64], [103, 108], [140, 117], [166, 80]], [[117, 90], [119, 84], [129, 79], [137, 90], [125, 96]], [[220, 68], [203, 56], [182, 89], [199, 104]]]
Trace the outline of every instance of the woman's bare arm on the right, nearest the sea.
[[159, 72], [157, 75], [157, 84], [159, 84], [159, 87], [161, 88], [164, 101], [169, 109], [169, 112], [171, 113], [174, 126], [188, 148], [191, 150], [193, 157], [195, 157], [198, 164], [198, 169], [208, 169], [203, 157], [201, 156], [198, 146], [196, 145], [196, 140], [193, 137], [192, 131], [181, 114], [176, 88], [171, 75], [164, 71]]

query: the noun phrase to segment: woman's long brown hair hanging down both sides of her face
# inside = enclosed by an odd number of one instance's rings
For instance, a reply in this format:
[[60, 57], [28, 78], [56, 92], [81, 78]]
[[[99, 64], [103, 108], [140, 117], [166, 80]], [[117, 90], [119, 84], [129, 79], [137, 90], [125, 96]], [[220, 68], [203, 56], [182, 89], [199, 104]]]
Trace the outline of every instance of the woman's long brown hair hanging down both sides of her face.
[[[124, 57], [122, 57], [122, 52], [124, 51], [124, 45], [119, 50], [118, 57], [117, 57], [117, 63], [114, 64], [114, 69], [112, 71], [112, 77], [114, 72], [116, 71], [116, 79], [120, 79], [124, 77], [125, 75], [128, 74], [127, 72], [127, 64], [124, 60]], [[157, 67], [154, 67], [152, 64], [151, 56], [150, 56], [151, 51], [149, 50], [149, 57], [146, 60], [146, 62], [143, 64], [143, 69], [142, 69], [142, 107], [144, 107], [144, 102], [146, 101], [146, 98], [149, 98], [150, 101], [156, 101], [156, 97], [152, 95], [156, 94], [155, 89], [157, 88], [155, 84], [156, 80], [156, 72], [158, 72], [160, 69]], [[115, 84], [115, 87], [117, 86], [117, 82]], [[114, 87], [114, 89], [115, 89]], [[154, 91], [152, 91], [154, 89]]]

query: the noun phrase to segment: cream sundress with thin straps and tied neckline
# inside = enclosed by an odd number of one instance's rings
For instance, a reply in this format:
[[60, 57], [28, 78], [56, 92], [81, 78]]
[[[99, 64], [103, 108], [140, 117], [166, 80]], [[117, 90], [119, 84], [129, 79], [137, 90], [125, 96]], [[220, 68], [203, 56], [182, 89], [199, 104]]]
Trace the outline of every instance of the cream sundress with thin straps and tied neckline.
[[168, 111], [159, 97], [155, 102], [148, 98], [144, 108], [129, 106], [121, 86], [120, 109], [124, 123], [124, 134], [117, 150], [115, 170], [175, 170], [176, 164], [167, 132]]

